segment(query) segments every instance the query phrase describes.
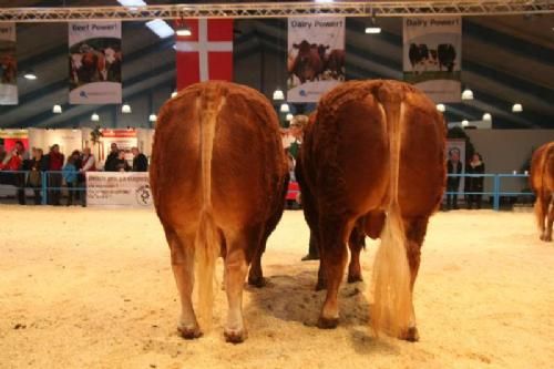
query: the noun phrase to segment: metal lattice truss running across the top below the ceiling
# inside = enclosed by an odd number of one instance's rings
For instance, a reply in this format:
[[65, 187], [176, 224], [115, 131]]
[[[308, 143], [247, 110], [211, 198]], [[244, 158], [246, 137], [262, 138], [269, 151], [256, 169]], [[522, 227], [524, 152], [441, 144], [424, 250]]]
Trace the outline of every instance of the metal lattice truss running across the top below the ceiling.
[[341, 1], [166, 4], [145, 7], [1, 8], [0, 21], [64, 22], [178, 18], [407, 17], [554, 13], [553, 0]]

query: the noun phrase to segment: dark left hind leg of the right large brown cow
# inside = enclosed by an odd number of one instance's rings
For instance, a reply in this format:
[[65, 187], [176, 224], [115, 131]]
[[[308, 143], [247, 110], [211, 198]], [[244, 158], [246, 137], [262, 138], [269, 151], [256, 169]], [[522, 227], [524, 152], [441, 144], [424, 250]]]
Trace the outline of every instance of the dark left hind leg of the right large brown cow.
[[[349, 229], [347, 229], [349, 228]], [[347, 235], [352, 226], [341, 219], [320, 222], [320, 253], [324, 273], [327, 279], [327, 297], [318, 320], [318, 327], [336, 328], [339, 322], [338, 291], [347, 263]]]

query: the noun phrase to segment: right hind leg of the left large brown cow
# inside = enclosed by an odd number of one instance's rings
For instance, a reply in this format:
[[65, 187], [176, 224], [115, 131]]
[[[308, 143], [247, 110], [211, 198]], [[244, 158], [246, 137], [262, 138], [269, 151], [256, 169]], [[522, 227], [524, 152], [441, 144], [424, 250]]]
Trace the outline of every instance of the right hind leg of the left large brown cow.
[[248, 334], [243, 318], [243, 289], [248, 273], [249, 249], [258, 247], [260, 242], [259, 228], [245, 229], [227, 239], [227, 255], [225, 258], [225, 291], [227, 293], [228, 314], [224, 336], [228, 342], [243, 342]]

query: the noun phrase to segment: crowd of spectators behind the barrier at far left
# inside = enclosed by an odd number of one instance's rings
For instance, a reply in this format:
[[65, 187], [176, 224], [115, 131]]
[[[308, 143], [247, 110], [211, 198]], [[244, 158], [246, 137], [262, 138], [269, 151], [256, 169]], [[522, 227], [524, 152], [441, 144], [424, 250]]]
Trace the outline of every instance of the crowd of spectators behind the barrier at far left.
[[[125, 158], [127, 152], [119, 150], [117, 145], [112, 143], [104, 171], [147, 172], [146, 155], [136, 147], [130, 153], [133, 155], [132, 165]], [[18, 203], [21, 205], [27, 203], [27, 188], [32, 188], [33, 203], [42, 204], [42, 186], [45, 181], [49, 205], [61, 205], [62, 189], [65, 187], [68, 192], [65, 205], [79, 202], [85, 206], [85, 174], [98, 170], [96, 158], [90, 147], [83, 148], [82, 152], [75, 150], [65, 158], [58, 144], [52, 145], [48, 154], [38, 147], [32, 147], [29, 154], [21, 141], [17, 141], [9, 152], [0, 145], [0, 184], [16, 186]]]

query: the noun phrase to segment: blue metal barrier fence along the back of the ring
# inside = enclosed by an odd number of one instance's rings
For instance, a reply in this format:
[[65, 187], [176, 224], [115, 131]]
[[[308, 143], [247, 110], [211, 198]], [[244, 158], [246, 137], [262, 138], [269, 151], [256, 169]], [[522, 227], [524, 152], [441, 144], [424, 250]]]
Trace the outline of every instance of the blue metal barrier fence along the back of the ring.
[[[1, 171], [0, 172], [0, 184], [8, 184], [16, 186], [18, 189], [33, 189], [40, 191], [41, 203], [48, 204], [49, 195], [52, 195], [55, 192], [69, 191], [75, 194], [76, 192], [85, 192], [86, 187], [84, 186], [84, 182], [75, 183], [75, 186], [68, 188], [68, 186], [63, 185], [63, 172], [40, 172], [40, 186], [30, 186], [29, 185], [29, 174], [30, 171]], [[516, 196], [534, 196], [532, 192], [513, 192], [513, 191], [502, 191], [502, 181], [506, 178], [527, 178], [529, 174], [449, 174], [449, 177], [461, 177], [464, 180], [466, 177], [483, 177], [483, 178], [492, 178], [492, 191], [483, 191], [483, 192], [445, 192], [444, 195], [488, 195], [492, 196], [493, 204], [492, 207], [495, 211], [500, 209], [500, 199], [501, 197], [516, 197]], [[11, 181], [11, 183], [9, 183]], [[82, 184], [83, 186], [78, 186], [76, 184]], [[85, 194], [83, 194], [85, 196]]]

